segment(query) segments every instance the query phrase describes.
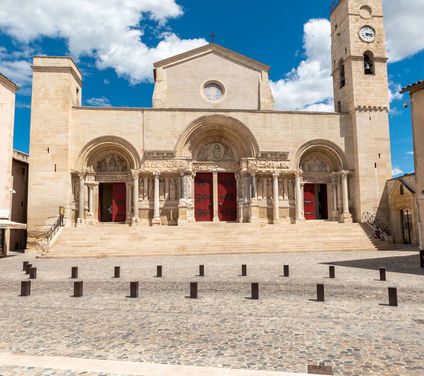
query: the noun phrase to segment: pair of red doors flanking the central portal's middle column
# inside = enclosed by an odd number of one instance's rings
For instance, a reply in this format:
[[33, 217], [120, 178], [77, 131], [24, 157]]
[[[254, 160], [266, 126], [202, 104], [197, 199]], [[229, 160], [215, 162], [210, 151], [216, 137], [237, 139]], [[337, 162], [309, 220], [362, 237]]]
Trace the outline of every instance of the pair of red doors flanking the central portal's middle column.
[[237, 183], [233, 173], [220, 173], [217, 179], [217, 197], [214, 198], [212, 173], [197, 173], [195, 178], [195, 219], [211, 222], [214, 218], [214, 202], [217, 201], [218, 219], [223, 222], [237, 220]]

